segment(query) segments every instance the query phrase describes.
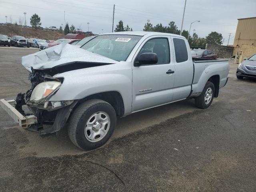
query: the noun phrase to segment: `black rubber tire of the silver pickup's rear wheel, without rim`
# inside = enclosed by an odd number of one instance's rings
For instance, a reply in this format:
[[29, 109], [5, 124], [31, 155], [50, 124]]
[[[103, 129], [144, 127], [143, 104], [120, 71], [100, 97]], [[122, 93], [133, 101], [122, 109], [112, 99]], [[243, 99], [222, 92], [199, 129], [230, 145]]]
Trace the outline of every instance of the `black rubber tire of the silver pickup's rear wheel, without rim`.
[[[204, 99], [205, 95], [207, 94], [207, 91], [209, 90], [209, 88], [212, 89], [212, 98], [210, 99], [210, 102], [207, 103]], [[212, 100], [214, 98], [214, 93], [215, 93], [215, 87], [214, 84], [210, 81], [208, 81], [206, 83], [206, 85], [204, 86], [204, 89], [202, 91], [202, 93], [200, 94], [200, 96], [195, 98], [195, 104], [198, 108], [201, 109], [206, 109], [208, 108], [211, 104], [212, 104]]]

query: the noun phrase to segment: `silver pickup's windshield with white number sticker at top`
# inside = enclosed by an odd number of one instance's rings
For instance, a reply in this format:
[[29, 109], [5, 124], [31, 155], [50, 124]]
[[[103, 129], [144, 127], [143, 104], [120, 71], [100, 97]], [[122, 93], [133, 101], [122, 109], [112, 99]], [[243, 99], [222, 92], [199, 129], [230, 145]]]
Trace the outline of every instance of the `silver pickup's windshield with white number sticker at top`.
[[81, 48], [116, 61], [125, 61], [141, 38], [135, 35], [99, 35]]

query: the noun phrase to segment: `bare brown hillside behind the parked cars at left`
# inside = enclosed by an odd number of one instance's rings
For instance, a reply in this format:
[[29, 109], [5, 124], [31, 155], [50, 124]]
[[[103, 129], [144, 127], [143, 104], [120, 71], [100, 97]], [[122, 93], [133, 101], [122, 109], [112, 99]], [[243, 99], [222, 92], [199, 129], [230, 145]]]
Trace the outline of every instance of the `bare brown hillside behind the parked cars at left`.
[[14, 35], [24, 36], [25, 38], [32, 37], [45, 40], [57, 40], [63, 38], [64, 35], [57, 31], [47, 31], [47, 30], [34, 30], [31, 28], [22, 28], [20, 26], [4, 26], [0, 25], [0, 34], [12, 37]]

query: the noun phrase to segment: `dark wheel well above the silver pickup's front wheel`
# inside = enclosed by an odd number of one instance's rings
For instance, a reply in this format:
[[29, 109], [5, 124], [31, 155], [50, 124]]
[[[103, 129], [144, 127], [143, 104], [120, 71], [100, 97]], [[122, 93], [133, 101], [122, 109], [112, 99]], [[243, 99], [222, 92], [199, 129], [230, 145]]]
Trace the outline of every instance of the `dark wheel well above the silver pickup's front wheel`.
[[104, 100], [113, 106], [117, 116], [122, 117], [124, 115], [124, 101], [121, 94], [117, 91], [108, 91], [108, 92], [93, 94], [82, 99], [80, 102], [90, 100], [90, 99]]

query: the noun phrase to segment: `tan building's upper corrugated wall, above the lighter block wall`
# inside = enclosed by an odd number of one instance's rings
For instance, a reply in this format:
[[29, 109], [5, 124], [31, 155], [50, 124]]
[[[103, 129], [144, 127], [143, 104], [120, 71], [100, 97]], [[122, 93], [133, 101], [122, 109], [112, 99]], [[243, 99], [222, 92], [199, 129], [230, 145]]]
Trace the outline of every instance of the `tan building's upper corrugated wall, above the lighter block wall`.
[[242, 44], [256, 46], [256, 17], [238, 19], [234, 47]]

